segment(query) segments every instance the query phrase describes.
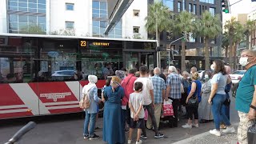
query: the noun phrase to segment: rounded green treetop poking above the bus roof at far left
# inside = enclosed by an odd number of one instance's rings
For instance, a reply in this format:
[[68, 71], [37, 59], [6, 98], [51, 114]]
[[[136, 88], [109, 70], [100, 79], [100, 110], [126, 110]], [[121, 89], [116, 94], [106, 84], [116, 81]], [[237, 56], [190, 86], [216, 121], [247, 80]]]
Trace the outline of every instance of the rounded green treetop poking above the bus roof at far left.
[[21, 28], [21, 34], [46, 34], [41, 26], [38, 26], [36, 23], [30, 23], [27, 26]]

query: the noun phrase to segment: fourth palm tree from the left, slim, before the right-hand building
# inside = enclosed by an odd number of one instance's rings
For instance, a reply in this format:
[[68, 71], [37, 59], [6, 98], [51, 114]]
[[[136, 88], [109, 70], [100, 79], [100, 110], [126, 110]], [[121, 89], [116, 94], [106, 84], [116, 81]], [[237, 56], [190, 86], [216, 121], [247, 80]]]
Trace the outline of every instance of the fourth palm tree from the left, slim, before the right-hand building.
[[236, 21], [236, 18], [232, 17], [230, 20], [226, 21], [226, 24], [224, 26], [225, 30], [227, 31], [228, 37], [229, 37], [229, 43], [230, 43], [230, 50], [229, 50], [229, 65], [231, 70], [234, 70], [234, 64], [232, 65], [232, 54], [234, 54], [233, 46], [234, 46], [234, 27], [238, 22]]

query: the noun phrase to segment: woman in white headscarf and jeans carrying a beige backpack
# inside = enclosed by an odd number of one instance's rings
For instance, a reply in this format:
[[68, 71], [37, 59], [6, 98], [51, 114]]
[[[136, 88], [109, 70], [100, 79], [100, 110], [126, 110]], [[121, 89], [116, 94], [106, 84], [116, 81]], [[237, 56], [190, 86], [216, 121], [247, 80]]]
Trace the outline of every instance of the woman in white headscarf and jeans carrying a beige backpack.
[[[95, 75], [88, 76], [89, 83], [88, 85], [82, 88], [83, 97], [87, 94], [90, 98], [90, 107], [85, 110], [86, 112], [86, 119], [84, 123], [84, 138], [90, 138], [90, 140], [99, 138], [98, 135], [94, 134], [94, 128], [96, 123], [96, 116], [97, 116], [97, 109], [98, 109], [98, 102], [101, 101], [98, 98], [98, 88], [96, 86], [96, 82], [98, 82], [98, 78]], [[90, 130], [88, 131], [88, 126], [90, 123]]]

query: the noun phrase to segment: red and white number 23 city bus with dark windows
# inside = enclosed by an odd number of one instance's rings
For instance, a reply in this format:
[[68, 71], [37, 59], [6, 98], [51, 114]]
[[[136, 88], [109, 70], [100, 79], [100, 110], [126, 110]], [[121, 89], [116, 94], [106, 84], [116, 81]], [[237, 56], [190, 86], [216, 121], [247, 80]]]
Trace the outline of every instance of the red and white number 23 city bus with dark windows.
[[0, 34], [0, 119], [77, 113], [89, 74], [156, 63], [156, 42], [138, 39]]

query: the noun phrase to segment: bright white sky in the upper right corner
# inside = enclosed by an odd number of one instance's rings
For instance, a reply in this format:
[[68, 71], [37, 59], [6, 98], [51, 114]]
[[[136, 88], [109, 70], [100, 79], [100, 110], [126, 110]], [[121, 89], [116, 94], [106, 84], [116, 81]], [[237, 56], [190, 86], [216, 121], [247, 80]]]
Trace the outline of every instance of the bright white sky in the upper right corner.
[[[230, 5], [238, 1], [240, 0], [230, 0]], [[226, 20], [229, 20], [232, 16], [236, 17], [238, 14], [249, 14], [253, 10], [256, 10], [256, 2], [251, 2], [251, 0], [242, 0], [241, 2], [230, 6], [231, 14], [222, 13], [222, 22], [226, 22]]]

